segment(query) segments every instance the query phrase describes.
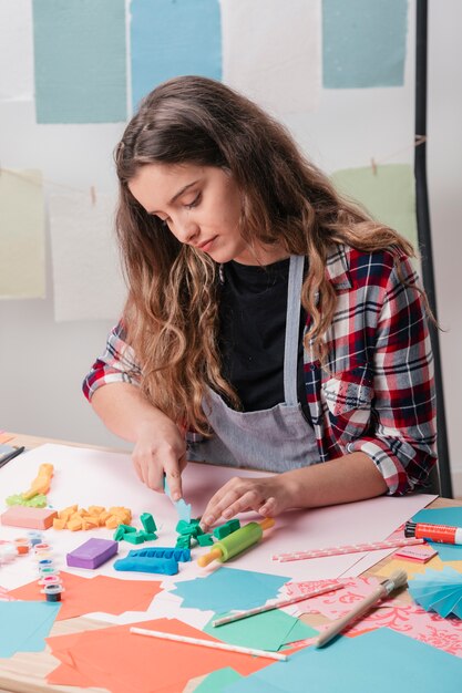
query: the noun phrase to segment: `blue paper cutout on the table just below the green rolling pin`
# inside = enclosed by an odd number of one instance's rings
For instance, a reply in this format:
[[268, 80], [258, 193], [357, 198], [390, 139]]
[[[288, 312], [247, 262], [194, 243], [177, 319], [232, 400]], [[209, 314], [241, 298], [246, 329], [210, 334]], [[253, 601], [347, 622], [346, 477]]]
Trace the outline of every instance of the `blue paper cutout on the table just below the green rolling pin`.
[[183, 598], [182, 607], [224, 613], [251, 609], [277, 597], [289, 577], [222, 567], [205, 578], [177, 582], [172, 593]]

